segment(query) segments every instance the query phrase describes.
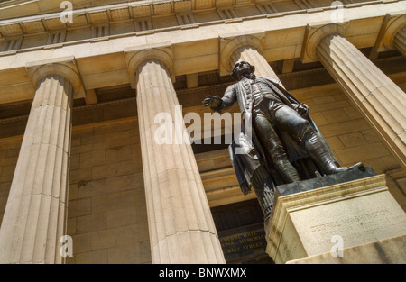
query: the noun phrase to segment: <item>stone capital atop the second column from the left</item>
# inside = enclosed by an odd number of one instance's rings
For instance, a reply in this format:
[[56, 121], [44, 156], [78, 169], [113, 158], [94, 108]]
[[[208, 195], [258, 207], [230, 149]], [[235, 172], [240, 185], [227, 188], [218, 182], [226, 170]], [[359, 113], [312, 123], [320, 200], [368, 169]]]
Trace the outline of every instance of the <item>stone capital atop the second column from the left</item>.
[[169, 70], [172, 82], [175, 81], [171, 43], [137, 46], [136, 48], [126, 48], [124, 51], [125, 63], [127, 65], [131, 87], [133, 89], [136, 89], [137, 87], [137, 68], [141, 63], [143, 63], [143, 61], [148, 59], [158, 59], [164, 63], [166, 68]]

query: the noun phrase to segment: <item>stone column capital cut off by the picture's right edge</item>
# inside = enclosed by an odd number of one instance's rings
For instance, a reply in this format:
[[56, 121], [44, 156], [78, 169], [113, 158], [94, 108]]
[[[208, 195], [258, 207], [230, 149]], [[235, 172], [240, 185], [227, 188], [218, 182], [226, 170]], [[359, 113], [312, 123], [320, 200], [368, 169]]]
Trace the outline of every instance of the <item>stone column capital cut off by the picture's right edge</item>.
[[386, 14], [383, 19], [381, 30], [378, 33], [374, 49], [378, 52], [394, 50], [393, 39], [396, 34], [406, 26], [406, 14]]

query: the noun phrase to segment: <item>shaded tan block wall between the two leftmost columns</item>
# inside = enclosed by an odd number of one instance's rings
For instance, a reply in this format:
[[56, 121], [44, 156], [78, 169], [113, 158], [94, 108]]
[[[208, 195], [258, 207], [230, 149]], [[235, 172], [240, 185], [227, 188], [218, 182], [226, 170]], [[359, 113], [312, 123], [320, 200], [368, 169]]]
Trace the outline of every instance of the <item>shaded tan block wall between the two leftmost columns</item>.
[[68, 263], [150, 263], [138, 123], [72, 132]]

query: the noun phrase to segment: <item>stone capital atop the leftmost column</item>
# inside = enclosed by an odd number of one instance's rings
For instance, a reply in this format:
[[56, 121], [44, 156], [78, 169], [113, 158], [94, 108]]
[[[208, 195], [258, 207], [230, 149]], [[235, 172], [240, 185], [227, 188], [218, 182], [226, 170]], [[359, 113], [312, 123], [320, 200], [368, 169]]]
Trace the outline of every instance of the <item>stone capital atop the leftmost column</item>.
[[28, 76], [32, 79], [32, 85], [36, 88], [42, 77], [60, 75], [69, 79], [74, 89], [73, 98], [86, 96], [83, 82], [78, 72], [78, 66], [73, 56], [32, 61], [25, 64]]

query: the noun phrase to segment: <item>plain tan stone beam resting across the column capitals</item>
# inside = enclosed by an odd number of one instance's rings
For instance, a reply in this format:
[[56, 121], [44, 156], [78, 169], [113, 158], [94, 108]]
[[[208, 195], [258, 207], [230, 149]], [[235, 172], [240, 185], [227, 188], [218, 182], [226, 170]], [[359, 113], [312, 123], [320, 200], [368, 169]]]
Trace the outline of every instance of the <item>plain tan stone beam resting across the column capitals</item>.
[[[158, 2], [157, 2], [158, 3]], [[356, 5], [344, 8], [343, 22], [346, 38], [358, 49], [374, 47], [388, 13], [401, 11], [406, 1], [374, 2], [374, 5]], [[9, 103], [32, 98], [34, 89], [25, 65], [32, 61], [72, 56], [84, 89], [91, 90], [107, 86], [130, 84], [125, 50], [137, 46], [162, 44], [171, 46], [173, 76], [196, 74], [220, 69], [221, 41], [239, 35], [261, 34], [263, 57], [268, 62], [300, 59], [309, 23], [331, 22], [337, 10], [305, 11], [305, 13], [268, 14], [247, 17], [239, 22], [227, 24], [223, 20], [208, 23], [193, 23], [185, 26], [157, 29], [152, 32], [129, 32], [112, 34], [100, 38], [66, 41], [69, 34], [58, 30], [47, 37], [50, 45], [5, 50], [0, 52], [0, 103]], [[144, 23], [148, 24], [148, 23]], [[106, 32], [100, 29], [95, 32]], [[69, 32], [68, 32], [69, 33]], [[28, 35], [27, 35], [28, 36]], [[33, 35], [32, 35], [33, 36]], [[8, 48], [19, 45], [14, 41]], [[10, 47], [11, 46], [11, 47]]]

